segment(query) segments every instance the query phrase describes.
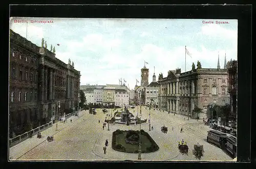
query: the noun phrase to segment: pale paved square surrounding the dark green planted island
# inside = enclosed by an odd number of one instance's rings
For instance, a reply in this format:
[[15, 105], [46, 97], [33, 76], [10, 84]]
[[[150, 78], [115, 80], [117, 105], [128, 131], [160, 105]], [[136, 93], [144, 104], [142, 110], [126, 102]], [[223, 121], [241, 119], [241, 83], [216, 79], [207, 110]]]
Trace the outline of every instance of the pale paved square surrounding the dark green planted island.
[[[120, 110], [120, 109], [119, 109]], [[135, 116], [139, 108], [129, 109]], [[149, 110], [141, 108], [142, 119], [149, 119]], [[16, 144], [9, 150], [11, 160], [137, 160], [138, 154], [115, 151], [111, 148], [113, 131], [139, 130], [139, 125], [111, 124], [102, 129], [106, 114], [101, 109], [96, 109], [97, 114], [89, 114], [89, 111], [79, 112], [79, 116], [71, 116], [67, 123], [58, 122], [51, 128], [42, 131], [42, 138], [32, 138]], [[114, 115], [113, 109], [112, 115]], [[135, 112], [134, 112], [135, 111]], [[111, 114], [111, 113], [110, 113]], [[185, 118], [185, 120], [184, 120]], [[70, 121], [72, 119], [72, 122]], [[98, 123], [100, 120], [100, 123]], [[148, 122], [148, 120], [147, 120]], [[206, 142], [207, 131], [203, 120], [187, 120], [180, 114], [168, 114], [166, 111], [151, 110], [152, 131], [148, 131], [149, 124], [141, 124], [141, 129], [148, 132], [159, 146], [159, 150], [153, 153], [142, 153], [142, 160], [196, 160], [193, 154], [194, 144], [204, 146], [204, 155], [201, 161], [232, 161], [232, 158], [220, 148]], [[162, 133], [161, 127], [168, 127], [168, 132]], [[184, 132], [180, 133], [181, 127]], [[173, 129], [174, 128], [174, 129]], [[173, 129], [173, 130], [172, 130]], [[48, 142], [47, 136], [53, 136], [54, 140]], [[106, 154], [103, 153], [105, 140], [109, 140]], [[188, 145], [188, 155], [182, 155], [178, 149], [178, 141], [184, 139]]]

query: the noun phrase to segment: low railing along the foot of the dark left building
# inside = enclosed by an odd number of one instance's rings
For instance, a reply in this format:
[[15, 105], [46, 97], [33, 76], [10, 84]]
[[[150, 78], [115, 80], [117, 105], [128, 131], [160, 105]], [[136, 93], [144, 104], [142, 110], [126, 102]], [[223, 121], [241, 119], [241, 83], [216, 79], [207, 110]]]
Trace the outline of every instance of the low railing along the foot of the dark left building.
[[33, 129], [33, 130], [30, 130], [30, 131], [28, 131], [28, 132], [26, 132], [26, 133], [23, 133], [23, 134], [21, 134], [21, 135], [18, 135], [18, 136], [16, 136], [16, 137], [9, 138], [9, 145], [10, 145], [10, 147], [15, 146], [16, 144], [18, 144], [18, 143], [20, 143], [20, 142], [26, 140], [26, 139], [29, 138], [30, 136], [34, 136], [34, 135], [36, 135], [38, 132], [44, 131], [44, 130], [48, 129], [48, 128], [51, 127], [51, 126], [52, 126], [52, 122], [47, 123], [47, 124], [42, 125], [42, 126], [39, 126], [39, 127], [35, 128], [35, 129]]

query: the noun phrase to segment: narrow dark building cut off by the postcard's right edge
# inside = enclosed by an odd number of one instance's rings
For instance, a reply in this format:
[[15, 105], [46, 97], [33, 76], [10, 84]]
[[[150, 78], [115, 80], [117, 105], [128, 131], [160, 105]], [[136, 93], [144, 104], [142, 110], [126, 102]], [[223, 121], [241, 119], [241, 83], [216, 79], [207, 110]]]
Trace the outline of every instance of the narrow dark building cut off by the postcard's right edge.
[[228, 74], [228, 93], [230, 94], [231, 112], [237, 114], [237, 80], [238, 80], [238, 61], [230, 60], [227, 62]]

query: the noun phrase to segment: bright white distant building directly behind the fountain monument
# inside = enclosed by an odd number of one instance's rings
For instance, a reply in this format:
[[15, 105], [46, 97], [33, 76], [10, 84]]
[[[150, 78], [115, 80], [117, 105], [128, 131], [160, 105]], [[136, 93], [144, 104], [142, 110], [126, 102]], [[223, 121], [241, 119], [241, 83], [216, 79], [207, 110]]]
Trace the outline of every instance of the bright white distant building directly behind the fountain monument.
[[129, 93], [126, 90], [115, 90], [115, 105], [120, 107], [123, 105], [129, 105]]

